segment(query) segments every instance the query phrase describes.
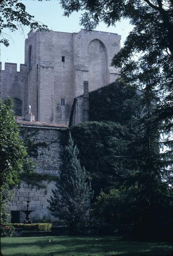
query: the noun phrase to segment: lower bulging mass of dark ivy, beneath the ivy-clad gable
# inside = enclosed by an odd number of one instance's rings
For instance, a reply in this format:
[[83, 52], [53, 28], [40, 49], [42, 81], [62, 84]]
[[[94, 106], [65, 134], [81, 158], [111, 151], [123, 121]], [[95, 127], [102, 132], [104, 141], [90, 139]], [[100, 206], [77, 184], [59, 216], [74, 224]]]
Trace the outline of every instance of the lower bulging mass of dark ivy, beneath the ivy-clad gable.
[[[84, 122], [71, 127], [80, 162], [91, 177], [94, 198], [100, 189], [108, 189], [119, 177], [121, 156], [127, 154], [127, 142], [133, 141], [133, 132], [133, 129], [115, 122]], [[62, 145], [66, 144], [66, 136], [67, 131], [62, 131]], [[128, 159], [126, 164], [126, 169], [133, 165]]]

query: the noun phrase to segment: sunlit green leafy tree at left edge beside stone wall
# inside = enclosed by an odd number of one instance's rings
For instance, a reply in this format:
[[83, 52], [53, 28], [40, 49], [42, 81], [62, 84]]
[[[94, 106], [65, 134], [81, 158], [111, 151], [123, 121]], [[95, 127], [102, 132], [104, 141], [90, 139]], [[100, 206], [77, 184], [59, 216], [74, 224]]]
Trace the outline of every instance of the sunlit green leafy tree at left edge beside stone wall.
[[19, 138], [19, 127], [11, 98], [0, 98], [0, 190], [1, 214], [5, 218], [5, 205], [12, 196], [11, 189], [20, 182], [20, 174], [33, 168], [27, 160], [24, 143]]

